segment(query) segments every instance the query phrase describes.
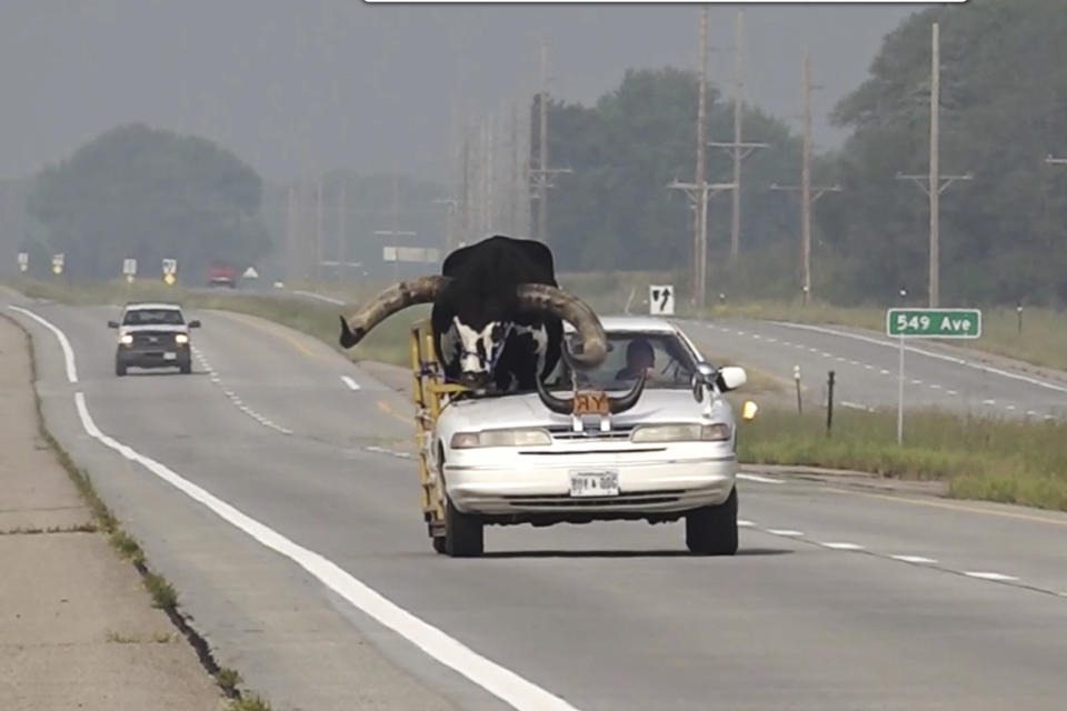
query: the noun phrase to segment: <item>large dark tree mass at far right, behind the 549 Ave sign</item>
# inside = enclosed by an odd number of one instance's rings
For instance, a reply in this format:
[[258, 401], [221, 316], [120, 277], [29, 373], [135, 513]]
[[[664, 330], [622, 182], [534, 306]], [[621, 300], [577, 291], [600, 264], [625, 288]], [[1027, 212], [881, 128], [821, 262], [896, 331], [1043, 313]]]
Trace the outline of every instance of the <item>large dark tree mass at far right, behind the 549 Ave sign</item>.
[[978, 0], [911, 16], [870, 78], [837, 106], [854, 134], [837, 170], [848, 199], [820, 210], [851, 268], [840, 299], [925, 293], [926, 196], [895, 179], [929, 152], [930, 24], [941, 37], [941, 170], [971, 171], [941, 200], [943, 301], [1067, 300], [1067, 12], [1063, 0]]

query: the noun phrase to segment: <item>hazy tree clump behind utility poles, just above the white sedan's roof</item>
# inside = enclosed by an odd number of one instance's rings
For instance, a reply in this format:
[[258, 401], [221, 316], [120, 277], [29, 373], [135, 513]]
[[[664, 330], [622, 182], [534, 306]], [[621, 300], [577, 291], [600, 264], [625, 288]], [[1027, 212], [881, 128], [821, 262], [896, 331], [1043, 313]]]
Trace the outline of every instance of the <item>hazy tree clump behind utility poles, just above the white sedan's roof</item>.
[[[707, 139], [730, 140], [731, 104], [711, 87], [707, 106]], [[549, 240], [561, 270], [688, 270], [694, 218], [686, 196], [667, 186], [694, 179], [696, 116], [696, 74], [671, 68], [628, 70], [592, 107], [550, 103], [552, 162], [574, 168], [555, 179], [549, 193]], [[747, 110], [745, 121], [748, 140], [774, 149], [745, 163], [742, 249], [754, 254], [782, 244], [791, 249], [798, 208], [768, 188], [796, 181], [798, 142], [785, 124], [759, 111]], [[535, 120], [535, 156], [537, 139]], [[728, 182], [730, 158], [712, 148], [707, 156], [708, 181]], [[711, 198], [708, 223], [709, 273], [721, 279], [716, 267], [729, 252], [728, 193]]]

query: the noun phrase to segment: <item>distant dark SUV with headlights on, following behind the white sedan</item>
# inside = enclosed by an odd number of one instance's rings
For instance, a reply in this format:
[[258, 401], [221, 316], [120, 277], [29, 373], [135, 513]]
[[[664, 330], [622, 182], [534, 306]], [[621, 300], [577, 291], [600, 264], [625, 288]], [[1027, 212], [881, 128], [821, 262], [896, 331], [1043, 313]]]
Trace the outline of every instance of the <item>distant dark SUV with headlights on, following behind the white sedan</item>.
[[108, 321], [119, 330], [114, 351], [114, 374], [124, 375], [127, 368], [178, 368], [192, 372], [189, 329], [200, 321], [186, 323], [181, 307], [176, 303], [128, 303], [120, 322]]

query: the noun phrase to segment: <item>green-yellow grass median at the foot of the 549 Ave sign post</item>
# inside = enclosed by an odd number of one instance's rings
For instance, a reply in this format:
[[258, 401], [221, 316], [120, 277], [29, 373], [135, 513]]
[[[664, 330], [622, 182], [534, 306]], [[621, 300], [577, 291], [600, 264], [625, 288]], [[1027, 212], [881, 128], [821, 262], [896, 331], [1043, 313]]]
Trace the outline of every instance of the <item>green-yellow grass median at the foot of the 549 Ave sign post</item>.
[[761, 411], [739, 438], [742, 461], [868, 471], [939, 480], [949, 495], [1067, 511], [1067, 424], [909, 412], [904, 445], [896, 413]]

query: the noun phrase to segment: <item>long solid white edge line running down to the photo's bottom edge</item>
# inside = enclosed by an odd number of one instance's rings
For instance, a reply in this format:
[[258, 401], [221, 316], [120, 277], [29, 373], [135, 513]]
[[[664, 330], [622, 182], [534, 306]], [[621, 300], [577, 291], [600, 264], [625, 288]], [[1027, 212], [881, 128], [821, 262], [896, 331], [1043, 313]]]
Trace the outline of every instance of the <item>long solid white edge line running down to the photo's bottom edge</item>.
[[522, 711], [534, 711], [535, 709], [538, 711], [541, 709], [576, 711], [574, 707], [559, 697], [478, 654], [458, 640], [389, 601], [331, 560], [293, 543], [278, 531], [247, 515], [154, 459], [150, 459], [108, 437], [100, 431], [89, 414], [83, 393], [74, 393], [74, 405], [87, 434], [100, 441], [104, 447], [117, 451], [126, 459], [141, 464], [144, 469], [187, 494], [190, 499], [200, 502], [223, 521], [240, 529], [266, 548], [281, 553], [297, 563], [327, 588], [347, 600], [352, 607], [397, 632], [437, 661], [455, 669], [489, 693]]

